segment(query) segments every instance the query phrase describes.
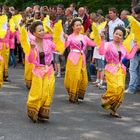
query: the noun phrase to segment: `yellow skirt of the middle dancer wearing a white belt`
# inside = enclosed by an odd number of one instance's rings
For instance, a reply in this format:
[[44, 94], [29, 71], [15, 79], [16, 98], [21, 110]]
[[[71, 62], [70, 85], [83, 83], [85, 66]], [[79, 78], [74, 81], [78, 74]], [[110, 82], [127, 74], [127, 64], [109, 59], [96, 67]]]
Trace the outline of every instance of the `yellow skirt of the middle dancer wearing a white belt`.
[[64, 85], [69, 94], [69, 101], [76, 102], [84, 99], [88, 83], [86, 66], [83, 65], [82, 55], [76, 65], [67, 60]]

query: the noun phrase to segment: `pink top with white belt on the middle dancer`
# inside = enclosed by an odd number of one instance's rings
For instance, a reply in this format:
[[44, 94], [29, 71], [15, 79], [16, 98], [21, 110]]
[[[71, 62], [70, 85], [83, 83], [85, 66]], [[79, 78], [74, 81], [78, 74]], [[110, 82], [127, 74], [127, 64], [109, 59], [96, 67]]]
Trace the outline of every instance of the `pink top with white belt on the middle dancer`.
[[96, 44], [90, 40], [86, 35], [80, 34], [79, 36], [75, 36], [74, 34], [69, 35], [68, 40], [65, 43], [65, 46], [70, 46], [70, 53], [68, 55], [68, 59], [72, 61], [74, 65], [78, 63], [80, 58], [80, 54], [83, 54], [83, 64], [86, 64], [86, 58], [84, 51], [87, 46], [95, 46]]

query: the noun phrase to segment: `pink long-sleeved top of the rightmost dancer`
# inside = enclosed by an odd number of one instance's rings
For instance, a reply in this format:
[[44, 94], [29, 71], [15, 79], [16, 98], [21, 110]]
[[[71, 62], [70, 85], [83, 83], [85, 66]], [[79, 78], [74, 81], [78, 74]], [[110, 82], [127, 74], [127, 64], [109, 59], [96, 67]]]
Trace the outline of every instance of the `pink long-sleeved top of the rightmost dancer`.
[[130, 53], [128, 53], [124, 46], [120, 44], [120, 51], [121, 51], [121, 59], [119, 61], [119, 54], [117, 51], [116, 46], [114, 45], [113, 42], [101, 42], [100, 48], [99, 48], [99, 53], [101, 55], [104, 55], [107, 61], [107, 65], [105, 67], [105, 70], [111, 73], [116, 73], [119, 69], [119, 66], [121, 66], [126, 73], [126, 68], [122, 64], [123, 58], [127, 59], [132, 59], [137, 51], [137, 45], [134, 44], [134, 47]]

